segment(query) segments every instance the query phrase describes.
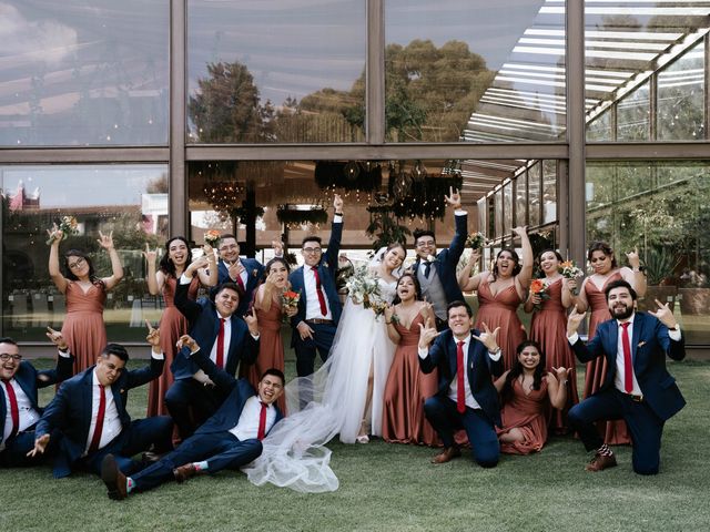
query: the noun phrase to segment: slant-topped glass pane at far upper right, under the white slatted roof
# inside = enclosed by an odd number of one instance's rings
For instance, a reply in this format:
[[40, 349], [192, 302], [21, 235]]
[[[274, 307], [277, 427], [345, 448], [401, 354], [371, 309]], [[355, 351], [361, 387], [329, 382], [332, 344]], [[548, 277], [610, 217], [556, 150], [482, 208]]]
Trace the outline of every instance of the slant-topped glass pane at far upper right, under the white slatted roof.
[[704, 43], [658, 74], [658, 139], [704, 137]]

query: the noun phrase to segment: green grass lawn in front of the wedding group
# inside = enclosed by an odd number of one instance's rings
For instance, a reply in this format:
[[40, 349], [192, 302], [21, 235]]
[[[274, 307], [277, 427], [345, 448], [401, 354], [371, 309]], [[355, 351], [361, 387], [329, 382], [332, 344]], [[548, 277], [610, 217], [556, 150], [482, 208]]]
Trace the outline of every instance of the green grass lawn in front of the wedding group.
[[[87, 473], [54, 480], [49, 467], [2, 470], [0, 531], [706, 531], [710, 364], [670, 366], [688, 406], [666, 426], [656, 477], [631, 471], [627, 447], [616, 448], [618, 468], [587, 473], [589, 457], [571, 438], [552, 438], [535, 456], [504, 456], [493, 470], [468, 457], [430, 464], [436, 451], [425, 447], [333, 442], [341, 488], [326, 494], [256, 488], [222, 472], [115, 502]], [[145, 411], [142, 391], [130, 397], [134, 418]]]

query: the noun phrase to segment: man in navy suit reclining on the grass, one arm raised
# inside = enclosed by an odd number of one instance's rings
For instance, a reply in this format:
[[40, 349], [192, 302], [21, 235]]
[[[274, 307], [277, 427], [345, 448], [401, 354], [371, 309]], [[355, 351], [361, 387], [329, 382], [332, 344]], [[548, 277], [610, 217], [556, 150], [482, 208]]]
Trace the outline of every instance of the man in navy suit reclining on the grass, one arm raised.
[[239, 469], [262, 453], [261, 440], [283, 417], [275, 401], [284, 389], [284, 374], [267, 369], [258, 381], [256, 393], [246, 379], [236, 380], [210, 360], [209, 352], [185, 335], [180, 344], [186, 346], [190, 358], [216, 387], [229, 392], [220, 409], [184, 440], [174, 451], [138, 474], [125, 477], [113, 456], [105, 457], [101, 478], [109, 489], [109, 498], [122, 500], [133, 491], [145, 491], [174, 479], [184, 482], [200, 473], [215, 473], [223, 469]]

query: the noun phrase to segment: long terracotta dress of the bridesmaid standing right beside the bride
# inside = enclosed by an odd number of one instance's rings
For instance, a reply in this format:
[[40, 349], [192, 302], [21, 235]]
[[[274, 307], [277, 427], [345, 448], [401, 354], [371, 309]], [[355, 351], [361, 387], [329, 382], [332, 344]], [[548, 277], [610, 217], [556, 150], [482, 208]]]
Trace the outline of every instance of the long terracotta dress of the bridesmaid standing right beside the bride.
[[437, 371], [428, 375], [419, 369], [420, 314], [409, 328], [395, 324], [402, 339], [395, 350], [385, 386], [383, 406], [383, 438], [393, 443], [424, 443], [438, 446], [436, 431], [424, 416], [424, 401], [436, 395]]

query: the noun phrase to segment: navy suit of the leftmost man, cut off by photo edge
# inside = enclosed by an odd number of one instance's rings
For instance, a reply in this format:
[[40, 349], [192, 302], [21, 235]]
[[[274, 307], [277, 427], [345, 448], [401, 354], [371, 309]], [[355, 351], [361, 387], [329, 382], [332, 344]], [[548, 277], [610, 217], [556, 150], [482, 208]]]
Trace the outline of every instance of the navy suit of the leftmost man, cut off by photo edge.
[[[22, 360], [14, 374], [14, 382], [22, 388], [32, 408], [41, 415], [42, 409], [38, 403], [38, 389], [47, 388], [70, 378], [73, 374], [73, 356], [58, 356], [54, 369], [42, 371], [38, 371], [30, 362]], [[0, 390], [4, 393], [3, 386], [0, 386]], [[0, 395], [0, 443], [4, 437], [2, 428], [8, 416], [10, 416], [10, 412], [7, 411], [4, 396]], [[27, 453], [34, 448], [36, 424], [28, 427], [4, 442], [4, 450], [0, 452], [0, 466], [24, 466], [32, 462], [32, 459], [28, 458]], [[49, 451], [45, 453], [49, 453]]]

